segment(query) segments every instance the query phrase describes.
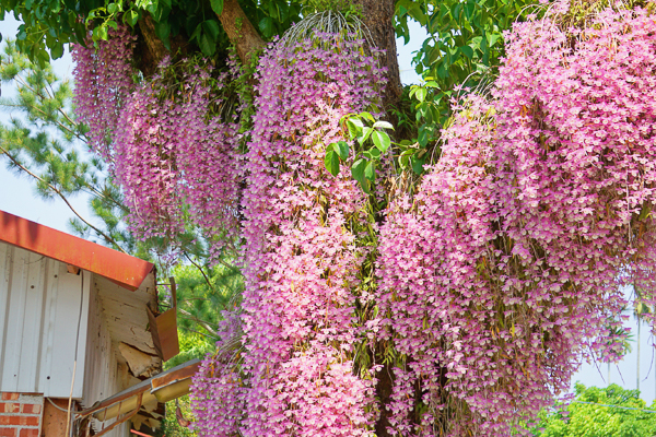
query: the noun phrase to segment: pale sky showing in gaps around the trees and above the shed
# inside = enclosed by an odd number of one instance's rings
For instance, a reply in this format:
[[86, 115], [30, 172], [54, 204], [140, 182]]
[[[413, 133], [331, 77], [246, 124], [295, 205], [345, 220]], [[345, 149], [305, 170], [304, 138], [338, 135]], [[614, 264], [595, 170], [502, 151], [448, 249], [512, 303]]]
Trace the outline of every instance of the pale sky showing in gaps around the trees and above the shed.
[[[0, 21], [0, 33], [4, 38], [14, 37], [19, 27], [19, 22], [9, 14], [4, 21]], [[403, 39], [397, 39], [397, 50], [399, 54], [399, 69], [401, 71], [401, 81], [405, 84], [419, 83], [420, 78], [414, 72], [412, 58], [414, 52], [421, 48], [426, 37], [425, 31], [413, 24], [410, 26], [411, 38], [408, 45]], [[72, 80], [73, 63], [69, 51], [67, 50], [61, 59], [54, 62], [55, 72], [61, 78]], [[12, 87], [8, 83], [2, 84], [2, 97], [12, 97]], [[16, 114], [0, 111], [0, 121], [7, 123], [11, 117]], [[13, 172], [7, 169], [7, 160], [0, 156], [0, 210], [22, 216], [36, 223], [54, 227], [62, 232], [71, 232], [68, 221], [73, 217], [72, 212], [60, 199], [44, 201], [36, 194], [34, 182], [28, 176], [19, 177]], [[73, 208], [85, 217], [90, 217], [87, 208], [89, 199], [84, 196], [78, 196], [69, 199]], [[636, 332], [637, 324], [631, 316], [625, 323], [631, 329], [634, 341], [631, 343], [630, 352], [619, 365], [611, 366], [610, 382], [618, 383], [626, 389], [636, 388], [636, 365], [637, 346]], [[640, 388], [642, 399], [651, 404], [656, 393], [656, 363], [654, 361], [654, 347], [652, 346], [653, 336], [648, 327], [643, 323], [641, 332], [640, 347]], [[583, 364], [576, 375], [572, 378], [572, 383], [581, 381], [586, 386], [605, 387], [608, 385], [608, 367], [606, 364]]]

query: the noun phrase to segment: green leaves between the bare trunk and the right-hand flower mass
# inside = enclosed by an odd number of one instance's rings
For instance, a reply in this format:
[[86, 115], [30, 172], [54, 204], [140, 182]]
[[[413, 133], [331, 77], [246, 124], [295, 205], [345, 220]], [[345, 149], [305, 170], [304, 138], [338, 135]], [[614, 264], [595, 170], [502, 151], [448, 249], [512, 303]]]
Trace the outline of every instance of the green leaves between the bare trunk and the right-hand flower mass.
[[415, 174], [423, 172], [429, 158], [440, 156], [440, 132], [450, 117], [454, 91], [480, 88], [495, 73], [504, 56], [503, 32], [523, 20], [531, 10], [527, 7], [534, 4], [534, 0], [396, 2], [397, 36], [409, 40], [411, 20], [429, 33], [414, 57], [415, 70], [425, 83], [412, 86], [409, 96], [414, 102], [411, 115], [417, 137], [402, 152], [406, 165], [411, 165]]

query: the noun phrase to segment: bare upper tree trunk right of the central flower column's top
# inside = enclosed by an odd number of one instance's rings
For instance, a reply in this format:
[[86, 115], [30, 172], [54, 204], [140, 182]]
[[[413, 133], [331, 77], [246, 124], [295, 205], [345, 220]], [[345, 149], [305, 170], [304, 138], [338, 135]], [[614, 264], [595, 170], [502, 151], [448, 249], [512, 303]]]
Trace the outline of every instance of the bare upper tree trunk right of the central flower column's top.
[[354, 0], [362, 7], [364, 24], [368, 27], [374, 44], [385, 50], [383, 64], [387, 67], [387, 87], [383, 96], [385, 111], [398, 107], [401, 98], [401, 76], [397, 60], [396, 33], [394, 29], [394, 0]]

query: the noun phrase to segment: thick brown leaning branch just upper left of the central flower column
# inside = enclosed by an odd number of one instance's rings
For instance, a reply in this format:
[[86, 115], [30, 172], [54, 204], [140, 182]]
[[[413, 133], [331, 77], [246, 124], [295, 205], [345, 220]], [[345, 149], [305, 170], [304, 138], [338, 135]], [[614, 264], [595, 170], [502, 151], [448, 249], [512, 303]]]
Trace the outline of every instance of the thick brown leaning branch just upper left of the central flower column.
[[219, 20], [230, 40], [237, 49], [237, 56], [244, 63], [248, 63], [250, 55], [265, 46], [253, 23], [246, 17], [237, 0], [224, 0], [223, 11]]

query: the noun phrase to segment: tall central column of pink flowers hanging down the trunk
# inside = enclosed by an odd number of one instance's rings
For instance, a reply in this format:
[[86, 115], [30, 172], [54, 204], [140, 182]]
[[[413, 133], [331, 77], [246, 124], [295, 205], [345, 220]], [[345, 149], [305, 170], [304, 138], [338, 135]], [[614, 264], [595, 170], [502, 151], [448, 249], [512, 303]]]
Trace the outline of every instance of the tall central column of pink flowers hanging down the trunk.
[[339, 119], [378, 103], [384, 72], [362, 44], [315, 34], [273, 44], [260, 60], [242, 202], [245, 416], [226, 427], [234, 395], [208, 400], [201, 435], [372, 434], [375, 379], [353, 368], [364, 257], [353, 226], [365, 221], [366, 198], [323, 161], [343, 140]]

